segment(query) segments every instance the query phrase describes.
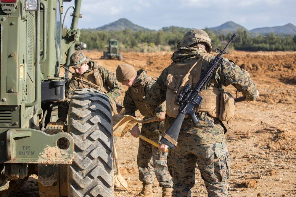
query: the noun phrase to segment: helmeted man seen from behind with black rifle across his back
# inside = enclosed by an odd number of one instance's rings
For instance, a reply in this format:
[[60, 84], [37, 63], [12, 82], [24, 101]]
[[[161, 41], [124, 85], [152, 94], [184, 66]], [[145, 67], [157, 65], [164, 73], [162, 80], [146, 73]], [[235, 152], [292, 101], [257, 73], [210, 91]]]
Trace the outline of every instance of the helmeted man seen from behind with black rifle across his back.
[[[213, 72], [207, 74], [208, 68], [216, 60], [210, 54], [211, 40], [203, 30], [188, 31], [178, 43], [178, 50], [173, 53], [173, 63], [162, 71], [145, 97], [147, 110], [155, 118], [163, 115], [160, 103], [167, 102], [166, 132], [161, 139], [164, 144], [159, 149], [165, 151], [167, 145], [172, 148], [168, 154], [168, 168], [174, 183], [172, 196], [191, 196], [196, 164], [208, 196], [228, 196], [229, 154], [224, 137], [226, 128], [219, 116], [223, 110], [220, 108], [222, 87], [233, 85], [246, 96], [248, 102], [259, 97], [249, 73], [231, 60], [222, 58], [228, 45], [217, 55], [220, 59]], [[202, 88], [198, 89], [196, 85], [200, 84], [200, 80], [203, 81]], [[177, 119], [181, 121], [174, 122]], [[168, 134], [177, 127], [179, 131], [176, 132], [180, 133]]]

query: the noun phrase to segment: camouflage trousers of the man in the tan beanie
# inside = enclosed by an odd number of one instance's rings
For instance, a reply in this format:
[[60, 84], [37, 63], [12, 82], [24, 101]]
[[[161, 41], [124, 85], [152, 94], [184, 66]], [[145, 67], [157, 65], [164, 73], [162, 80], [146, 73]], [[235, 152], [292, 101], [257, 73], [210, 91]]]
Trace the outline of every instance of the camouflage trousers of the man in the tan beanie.
[[[148, 137], [150, 140], [159, 143], [161, 136]], [[173, 186], [172, 177], [168, 172], [168, 153], [161, 152], [156, 146], [140, 139], [137, 164], [139, 168], [139, 179], [145, 184], [152, 184], [154, 174], [163, 188]]]

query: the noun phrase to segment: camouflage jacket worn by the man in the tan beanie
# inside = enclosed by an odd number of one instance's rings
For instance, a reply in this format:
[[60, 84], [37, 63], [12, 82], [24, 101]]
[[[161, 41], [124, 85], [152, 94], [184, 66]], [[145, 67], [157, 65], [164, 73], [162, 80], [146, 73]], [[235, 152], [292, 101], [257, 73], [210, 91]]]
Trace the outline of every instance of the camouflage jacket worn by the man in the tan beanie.
[[[144, 70], [137, 71], [137, 75], [139, 75], [139, 77], [137, 78], [136, 82], [133, 84], [134, 87], [139, 86], [139, 84], [147, 77], [146, 71]], [[146, 83], [146, 86], [144, 87], [144, 91], [146, 95], [154, 83], [155, 83], [154, 80], [150, 80]], [[125, 109], [126, 115], [132, 115], [135, 117], [136, 111], [138, 110], [138, 108], [136, 107], [135, 102], [129, 92], [130, 89], [131, 87], [129, 87], [128, 90], [125, 92], [123, 107]], [[162, 112], [166, 111], [165, 102], [160, 104], [159, 110]], [[144, 135], [145, 137], [160, 135], [160, 131], [155, 129], [156, 126], [163, 126], [163, 122], [152, 122], [152, 123], [143, 124], [141, 129], [141, 134]]]

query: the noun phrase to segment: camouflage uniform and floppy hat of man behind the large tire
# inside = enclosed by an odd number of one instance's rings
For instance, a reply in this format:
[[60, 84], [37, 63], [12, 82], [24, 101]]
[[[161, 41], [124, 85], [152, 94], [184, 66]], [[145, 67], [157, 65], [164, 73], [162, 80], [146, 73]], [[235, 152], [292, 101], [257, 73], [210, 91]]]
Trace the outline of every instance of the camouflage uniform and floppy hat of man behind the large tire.
[[[78, 74], [76, 69], [81, 68], [81, 66], [84, 66], [87, 64], [89, 67], [88, 69], [83, 72], [82, 74]], [[73, 95], [73, 92], [76, 89], [80, 88], [94, 88], [94, 89], [110, 89], [109, 92], [106, 93], [106, 95], [109, 97], [110, 103], [114, 103], [115, 99], [117, 99], [120, 96], [121, 93], [121, 86], [116, 80], [116, 77], [114, 76], [114, 73], [109, 72], [107, 69], [105, 69], [103, 66], [99, 66], [96, 64], [96, 62], [92, 61], [89, 57], [84, 56], [84, 54], [81, 51], [75, 52], [70, 57], [70, 66], [73, 67], [76, 71], [76, 73], [72, 76], [69, 83], [67, 84], [65, 88], [65, 101], [59, 104], [58, 107], [58, 121], [66, 121], [68, 110], [69, 110], [69, 104], [70, 99]], [[92, 77], [94, 74], [94, 69], [97, 68], [97, 72], [99, 73], [100, 77], [102, 78], [102, 84], [99, 84], [99, 87], [96, 85], [95, 77]], [[78, 71], [79, 72], [79, 71]], [[91, 76], [91, 77], [86, 77]], [[79, 80], [78, 78], [82, 77], [83, 79], [88, 78], [88, 80], [93, 83], [89, 84], [88, 82], [84, 82]], [[105, 87], [105, 88], [103, 88]], [[113, 112], [115, 112], [114, 109], [112, 109]], [[116, 112], [115, 112], [116, 113]]]

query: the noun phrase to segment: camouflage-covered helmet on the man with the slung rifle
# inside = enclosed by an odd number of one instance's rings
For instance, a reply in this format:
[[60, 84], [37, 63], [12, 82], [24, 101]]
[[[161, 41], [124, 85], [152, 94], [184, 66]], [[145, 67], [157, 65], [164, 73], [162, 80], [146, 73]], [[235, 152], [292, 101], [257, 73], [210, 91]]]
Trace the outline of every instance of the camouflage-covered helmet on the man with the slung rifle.
[[183, 40], [180, 43], [180, 47], [188, 47], [194, 43], [199, 43], [199, 42], [206, 43], [208, 46], [207, 52], [208, 53], [212, 52], [213, 50], [211, 45], [212, 41], [209, 35], [207, 35], [207, 32], [205, 32], [204, 30], [199, 30], [199, 29], [189, 30], [184, 35]]

